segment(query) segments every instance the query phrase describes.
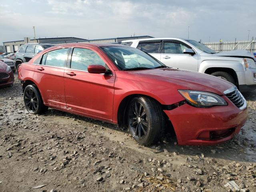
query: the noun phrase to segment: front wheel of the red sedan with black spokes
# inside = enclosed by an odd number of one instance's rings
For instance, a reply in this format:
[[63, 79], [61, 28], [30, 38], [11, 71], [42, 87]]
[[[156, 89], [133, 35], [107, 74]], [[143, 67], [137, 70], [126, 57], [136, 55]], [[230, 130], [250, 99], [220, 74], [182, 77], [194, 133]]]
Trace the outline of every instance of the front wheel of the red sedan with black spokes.
[[157, 142], [166, 126], [159, 104], [144, 96], [135, 97], [130, 101], [127, 122], [134, 140], [145, 146]]

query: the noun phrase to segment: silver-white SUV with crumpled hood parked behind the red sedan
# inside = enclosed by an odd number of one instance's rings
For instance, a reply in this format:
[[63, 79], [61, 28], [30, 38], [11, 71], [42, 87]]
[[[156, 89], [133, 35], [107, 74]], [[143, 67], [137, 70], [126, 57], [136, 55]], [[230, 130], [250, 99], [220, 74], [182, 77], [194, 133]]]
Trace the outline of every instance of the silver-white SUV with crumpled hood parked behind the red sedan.
[[121, 44], [147, 52], [169, 67], [228, 80], [241, 92], [256, 89], [256, 61], [248, 51], [216, 53], [200, 42], [182, 38], [134, 39], [122, 41]]

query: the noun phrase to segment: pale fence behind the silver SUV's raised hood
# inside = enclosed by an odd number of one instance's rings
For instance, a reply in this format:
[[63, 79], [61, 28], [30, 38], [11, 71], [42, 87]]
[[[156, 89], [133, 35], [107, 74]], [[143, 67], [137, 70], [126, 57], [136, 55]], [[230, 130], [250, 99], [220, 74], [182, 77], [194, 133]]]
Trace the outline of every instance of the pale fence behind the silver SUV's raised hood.
[[226, 41], [226, 42], [202, 42], [216, 52], [243, 49], [249, 52], [256, 51], [256, 40], [252, 41]]

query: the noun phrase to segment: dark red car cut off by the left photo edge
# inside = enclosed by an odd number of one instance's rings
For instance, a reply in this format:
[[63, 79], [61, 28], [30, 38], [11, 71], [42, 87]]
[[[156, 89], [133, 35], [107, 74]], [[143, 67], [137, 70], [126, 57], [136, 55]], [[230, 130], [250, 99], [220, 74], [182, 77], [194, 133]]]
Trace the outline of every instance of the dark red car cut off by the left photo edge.
[[14, 75], [10, 66], [0, 60], [0, 88], [12, 86]]

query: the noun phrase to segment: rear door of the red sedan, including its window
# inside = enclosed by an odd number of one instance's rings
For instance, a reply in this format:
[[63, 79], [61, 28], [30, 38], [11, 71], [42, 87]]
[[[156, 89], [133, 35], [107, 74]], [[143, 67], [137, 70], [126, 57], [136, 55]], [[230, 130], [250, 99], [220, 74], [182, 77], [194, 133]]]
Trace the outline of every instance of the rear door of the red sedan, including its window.
[[55, 49], [42, 55], [35, 67], [34, 80], [38, 83], [45, 103], [66, 108], [64, 71], [69, 48]]

